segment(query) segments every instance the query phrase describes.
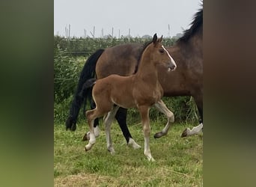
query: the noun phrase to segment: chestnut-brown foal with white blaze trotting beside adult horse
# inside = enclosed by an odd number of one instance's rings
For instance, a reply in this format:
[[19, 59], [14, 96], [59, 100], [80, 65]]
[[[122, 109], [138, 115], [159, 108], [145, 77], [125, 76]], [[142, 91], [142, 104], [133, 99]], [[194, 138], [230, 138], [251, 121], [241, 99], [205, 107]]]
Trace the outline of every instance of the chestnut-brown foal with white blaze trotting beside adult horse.
[[110, 153], [115, 153], [112, 146], [110, 135], [110, 126], [115, 117], [118, 108], [133, 108], [137, 107], [141, 114], [144, 132], [144, 155], [147, 159], [154, 161], [150, 153], [149, 138], [150, 138], [150, 106], [156, 105], [157, 108], [166, 108], [162, 112], [168, 115], [171, 123], [174, 122], [174, 114], [168, 111], [168, 108], [162, 102], [163, 95], [162, 87], [158, 81], [158, 73], [156, 65], [163, 64], [167, 70], [175, 70], [177, 67], [171, 55], [162, 46], [162, 37], [157, 39], [156, 34], [153, 35], [153, 40], [144, 46], [142, 51], [138, 71], [132, 76], [111, 75], [103, 79], [98, 79], [96, 82], [85, 82], [83, 91], [92, 85], [93, 98], [96, 103], [96, 108], [86, 111], [88, 125], [90, 128], [90, 141], [85, 146], [85, 151], [91, 150], [95, 144], [96, 138], [94, 134], [94, 119], [104, 117], [106, 125], [106, 141], [107, 148]]

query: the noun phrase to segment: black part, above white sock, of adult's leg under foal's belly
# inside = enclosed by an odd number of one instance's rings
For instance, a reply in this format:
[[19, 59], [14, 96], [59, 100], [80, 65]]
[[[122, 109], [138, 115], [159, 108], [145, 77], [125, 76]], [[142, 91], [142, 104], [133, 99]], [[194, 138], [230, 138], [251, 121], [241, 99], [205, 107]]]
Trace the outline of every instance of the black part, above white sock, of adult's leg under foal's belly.
[[129, 133], [129, 129], [127, 127], [127, 108], [119, 108], [117, 114], [115, 114], [115, 119], [118, 120], [118, 125], [120, 126], [124, 138], [127, 140], [127, 144], [129, 143], [129, 138], [132, 138], [132, 135]]

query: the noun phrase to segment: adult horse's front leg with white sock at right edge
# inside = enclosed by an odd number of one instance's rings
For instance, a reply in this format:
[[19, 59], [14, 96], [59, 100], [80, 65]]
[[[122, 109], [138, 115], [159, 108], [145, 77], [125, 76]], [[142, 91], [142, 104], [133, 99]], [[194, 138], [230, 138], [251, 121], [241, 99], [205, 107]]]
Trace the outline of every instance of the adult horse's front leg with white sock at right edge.
[[201, 132], [201, 130], [203, 130], [203, 95], [198, 94], [197, 96], [194, 96], [194, 99], [201, 117], [201, 119], [199, 120], [199, 125], [194, 126], [192, 129], [186, 128], [182, 132], [181, 137], [198, 135]]

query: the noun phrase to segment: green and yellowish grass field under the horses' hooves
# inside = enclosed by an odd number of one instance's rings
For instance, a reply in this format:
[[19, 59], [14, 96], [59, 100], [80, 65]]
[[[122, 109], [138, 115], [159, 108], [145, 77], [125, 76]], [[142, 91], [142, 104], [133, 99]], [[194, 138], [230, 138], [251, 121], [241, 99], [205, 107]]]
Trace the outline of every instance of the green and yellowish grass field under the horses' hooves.
[[[55, 186], [203, 186], [203, 136], [180, 138], [187, 124], [174, 124], [165, 137], [154, 139], [165, 123], [151, 121], [150, 150], [156, 162], [144, 156], [141, 124], [129, 126], [141, 148], [128, 147], [121, 129], [112, 124], [115, 155], [106, 149], [104, 126], [92, 150], [85, 153], [82, 136], [88, 125], [79, 124], [76, 132], [64, 124], [54, 129]], [[192, 127], [190, 125], [189, 127]]]

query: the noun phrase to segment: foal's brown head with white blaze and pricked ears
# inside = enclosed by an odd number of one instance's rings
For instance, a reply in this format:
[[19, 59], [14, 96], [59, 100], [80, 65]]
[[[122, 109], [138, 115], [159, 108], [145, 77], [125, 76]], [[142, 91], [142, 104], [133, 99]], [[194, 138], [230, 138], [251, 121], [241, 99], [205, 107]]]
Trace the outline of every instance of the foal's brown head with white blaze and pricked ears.
[[153, 35], [153, 40], [151, 45], [151, 59], [153, 59], [156, 64], [163, 64], [165, 67], [168, 67], [168, 70], [175, 70], [177, 65], [168, 51], [162, 46], [162, 37], [157, 39], [156, 34]]

